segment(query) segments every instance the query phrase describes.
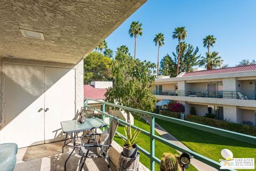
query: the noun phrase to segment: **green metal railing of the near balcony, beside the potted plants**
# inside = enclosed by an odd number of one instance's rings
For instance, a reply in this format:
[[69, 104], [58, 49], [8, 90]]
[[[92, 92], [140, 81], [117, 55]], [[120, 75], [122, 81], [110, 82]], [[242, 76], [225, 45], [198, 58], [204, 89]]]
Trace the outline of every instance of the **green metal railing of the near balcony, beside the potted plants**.
[[[195, 159], [197, 159], [199, 161], [202, 161], [205, 164], [210, 165], [210, 166], [220, 170], [219, 162], [214, 161], [210, 158], [207, 158], [207, 157], [205, 157], [201, 154], [198, 154], [198, 153], [196, 153], [192, 150], [183, 149], [181, 146], [179, 146], [177, 144], [174, 144], [170, 141], [167, 141], [167, 140], [163, 139], [160, 136], [155, 135], [155, 118], [162, 119], [162, 120], [165, 120], [165, 121], [170, 121], [171, 123], [180, 124], [180, 125], [191, 127], [191, 128], [196, 128], [196, 129], [199, 129], [199, 130], [202, 130], [202, 131], [205, 131], [205, 132], [210, 132], [210, 133], [218, 134], [218, 135], [221, 135], [221, 136], [229, 137], [231, 139], [235, 139], [235, 140], [239, 140], [239, 141], [243, 141], [243, 142], [247, 142], [247, 143], [251, 143], [251, 144], [256, 144], [256, 137], [255, 136], [250, 136], [250, 135], [245, 135], [245, 134], [241, 134], [241, 133], [231, 132], [231, 131], [227, 131], [225, 129], [214, 128], [214, 127], [210, 127], [210, 126], [206, 126], [206, 125], [202, 125], [202, 124], [191, 123], [191, 122], [186, 121], [186, 120], [171, 118], [171, 117], [167, 117], [167, 116], [163, 116], [163, 115], [158, 115], [156, 113], [151, 113], [151, 112], [147, 112], [147, 111], [143, 111], [143, 110], [124, 107], [122, 105], [117, 105], [117, 104], [108, 103], [108, 102], [102, 102], [102, 101], [93, 100], [93, 99], [89, 99], [89, 98], [86, 98], [85, 103], [84, 103], [84, 105], [87, 106], [87, 107], [90, 107], [90, 105], [88, 105], [88, 100], [95, 101], [95, 102], [98, 102], [98, 103], [102, 103], [102, 111], [98, 110], [98, 109], [95, 109], [95, 110], [102, 113], [102, 119], [103, 120], [105, 120], [105, 116], [108, 116], [110, 119], [113, 118], [113, 116], [111, 116], [111, 115], [109, 115], [108, 113], [105, 112], [106, 105], [109, 105], [110, 107], [116, 107], [116, 108], [128, 110], [128, 111], [131, 111], [131, 112], [140, 113], [141, 115], [145, 115], [145, 116], [150, 117], [150, 119], [151, 119], [150, 132], [145, 131], [144, 129], [141, 129], [141, 128], [139, 128], [137, 126], [134, 126], [134, 125], [131, 125], [131, 127], [134, 128], [134, 129], [139, 129], [142, 134], [145, 134], [145, 135], [150, 137], [150, 151], [147, 151], [147, 150], [143, 149], [139, 145], [137, 145], [137, 146], [138, 146], [138, 149], [142, 153], [144, 153], [147, 157], [150, 158], [150, 170], [151, 171], [155, 170], [155, 162], [157, 162], [158, 164], [160, 164], [160, 162], [161, 162], [161, 160], [155, 156], [155, 140], [157, 140], [159, 142], [162, 142], [163, 144], [168, 145], [171, 148], [174, 148], [174, 149], [179, 150], [181, 152], [190, 153], [192, 156], [194, 156]], [[121, 119], [119, 119], [119, 122], [123, 125], [127, 125], [127, 126], [130, 125], [129, 123], [127, 123], [127, 122], [125, 122]], [[118, 132], [117, 132], [117, 134], [123, 136], [122, 134], [120, 134]], [[224, 169], [221, 169], [221, 170], [224, 170]], [[227, 170], [229, 170], [229, 169], [227, 169]], [[234, 170], [234, 169], [230, 169], [230, 170]]]

